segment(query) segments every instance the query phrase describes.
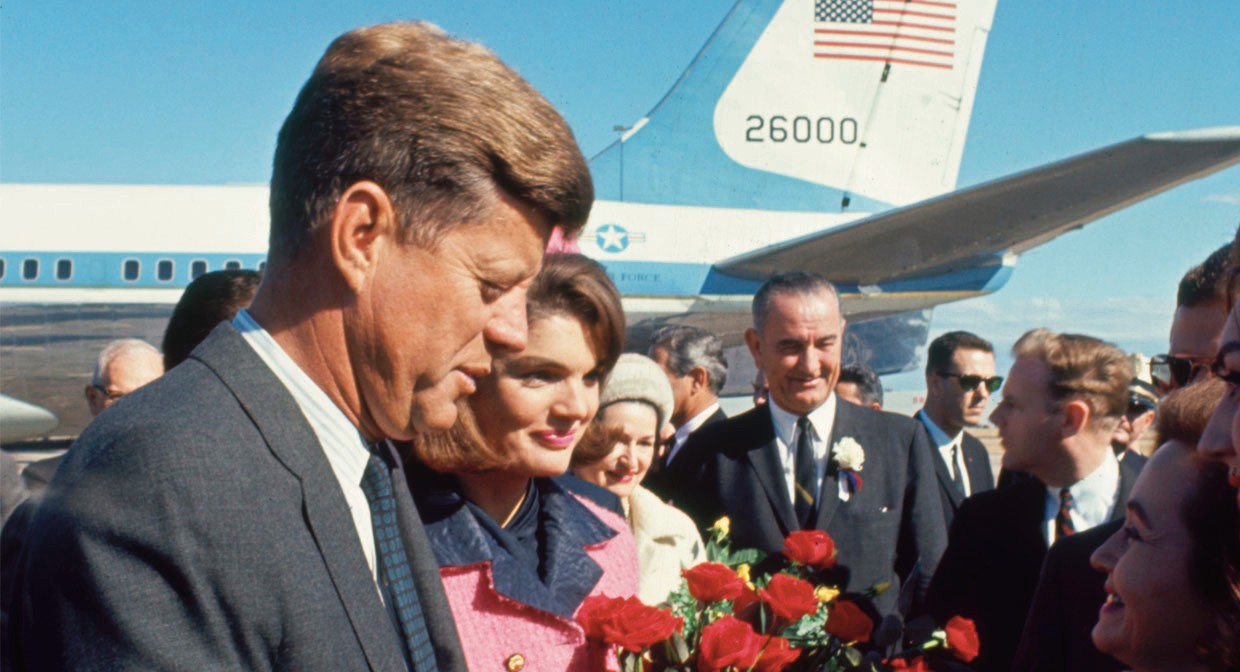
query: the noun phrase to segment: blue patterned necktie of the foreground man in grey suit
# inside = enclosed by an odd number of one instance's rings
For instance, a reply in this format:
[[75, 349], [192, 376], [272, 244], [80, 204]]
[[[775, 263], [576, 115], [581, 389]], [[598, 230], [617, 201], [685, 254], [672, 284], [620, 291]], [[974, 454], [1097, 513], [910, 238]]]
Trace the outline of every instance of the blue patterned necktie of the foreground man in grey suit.
[[372, 453], [362, 475], [362, 491], [371, 503], [371, 524], [374, 528], [374, 562], [378, 563], [379, 584], [387, 606], [401, 625], [409, 670], [434, 672], [439, 667], [435, 651], [427, 634], [427, 621], [418, 599], [418, 585], [409, 570], [404, 542], [397, 526], [396, 497], [392, 495], [392, 472], [379, 455]]

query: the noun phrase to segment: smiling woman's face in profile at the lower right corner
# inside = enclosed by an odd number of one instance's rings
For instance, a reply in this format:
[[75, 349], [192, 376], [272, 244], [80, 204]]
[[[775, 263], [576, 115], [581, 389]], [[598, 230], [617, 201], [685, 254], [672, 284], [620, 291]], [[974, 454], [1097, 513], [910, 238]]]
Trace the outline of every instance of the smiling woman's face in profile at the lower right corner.
[[1184, 500], [1199, 487], [1193, 446], [1168, 441], [1132, 487], [1123, 527], [1090, 562], [1106, 573], [1094, 643], [1133, 670], [1187, 667], [1209, 632], [1207, 600], [1189, 579]]

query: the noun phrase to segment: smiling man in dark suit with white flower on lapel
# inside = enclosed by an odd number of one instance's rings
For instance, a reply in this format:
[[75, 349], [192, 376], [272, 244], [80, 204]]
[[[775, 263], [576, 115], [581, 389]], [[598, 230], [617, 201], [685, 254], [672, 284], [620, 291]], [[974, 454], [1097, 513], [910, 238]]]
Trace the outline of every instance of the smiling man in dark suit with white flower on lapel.
[[[836, 398], [844, 320], [835, 288], [789, 273], [754, 296], [745, 342], [770, 400], [689, 436], [708, 458], [677, 505], [704, 527], [732, 518], [738, 547], [779, 552], [797, 529], [823, 529], [839, 549], [841, 588], [884, 581], [895, 610], [900, 578], [935, 570], [945, 528], [925, 430], [910, 418]], [[899, 578], [898, 578], [899, 577]]]

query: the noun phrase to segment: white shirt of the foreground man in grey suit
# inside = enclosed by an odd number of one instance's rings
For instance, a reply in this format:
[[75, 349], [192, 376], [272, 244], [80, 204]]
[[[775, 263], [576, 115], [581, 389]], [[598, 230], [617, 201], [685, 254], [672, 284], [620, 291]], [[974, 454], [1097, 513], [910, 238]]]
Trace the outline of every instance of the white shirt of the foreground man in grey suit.
[[310, 424], [310, 429], [319, 438], [319, 446], [327, 456], [327, 464], [340, 482], [348, 513], [353, 518], [353, 527], [357, 529], [357, 539], [362, 544], [362, 553], [366, 554], [366, 563], [378, 585], [371, 505], [362, 490], [362, 474], [366, 472], [366, 462], [371, 459], [370, 446], [340, 407], [332, 403], [327, 393], [311, 381], [306, 372], [301, 371], [301, 367], [250, 317], [249, 312], [239, 310], [232, 324], [272, 373], [284, 383], [301, 409], [301, 414], [305, 415], [306, 423]]

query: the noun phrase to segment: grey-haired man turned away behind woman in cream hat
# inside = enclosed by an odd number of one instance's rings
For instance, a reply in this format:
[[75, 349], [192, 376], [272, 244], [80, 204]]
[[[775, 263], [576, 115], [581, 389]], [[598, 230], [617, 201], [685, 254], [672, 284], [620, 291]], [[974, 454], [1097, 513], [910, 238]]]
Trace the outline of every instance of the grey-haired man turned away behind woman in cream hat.
[[677, 489], [687, 485], [684, 475], [699, 466], [693, 458], [684, 458], [689, 434], [728, 419], [719, 408], [719, 392], [728, 381], [728, 360], [718, 336], [688, 325], [655, 331], [647, 355], [672, 383], [671, 423], [676, 433], [663, 455], [651, 465], [644, 485], [663, 498], [675, 500]]

